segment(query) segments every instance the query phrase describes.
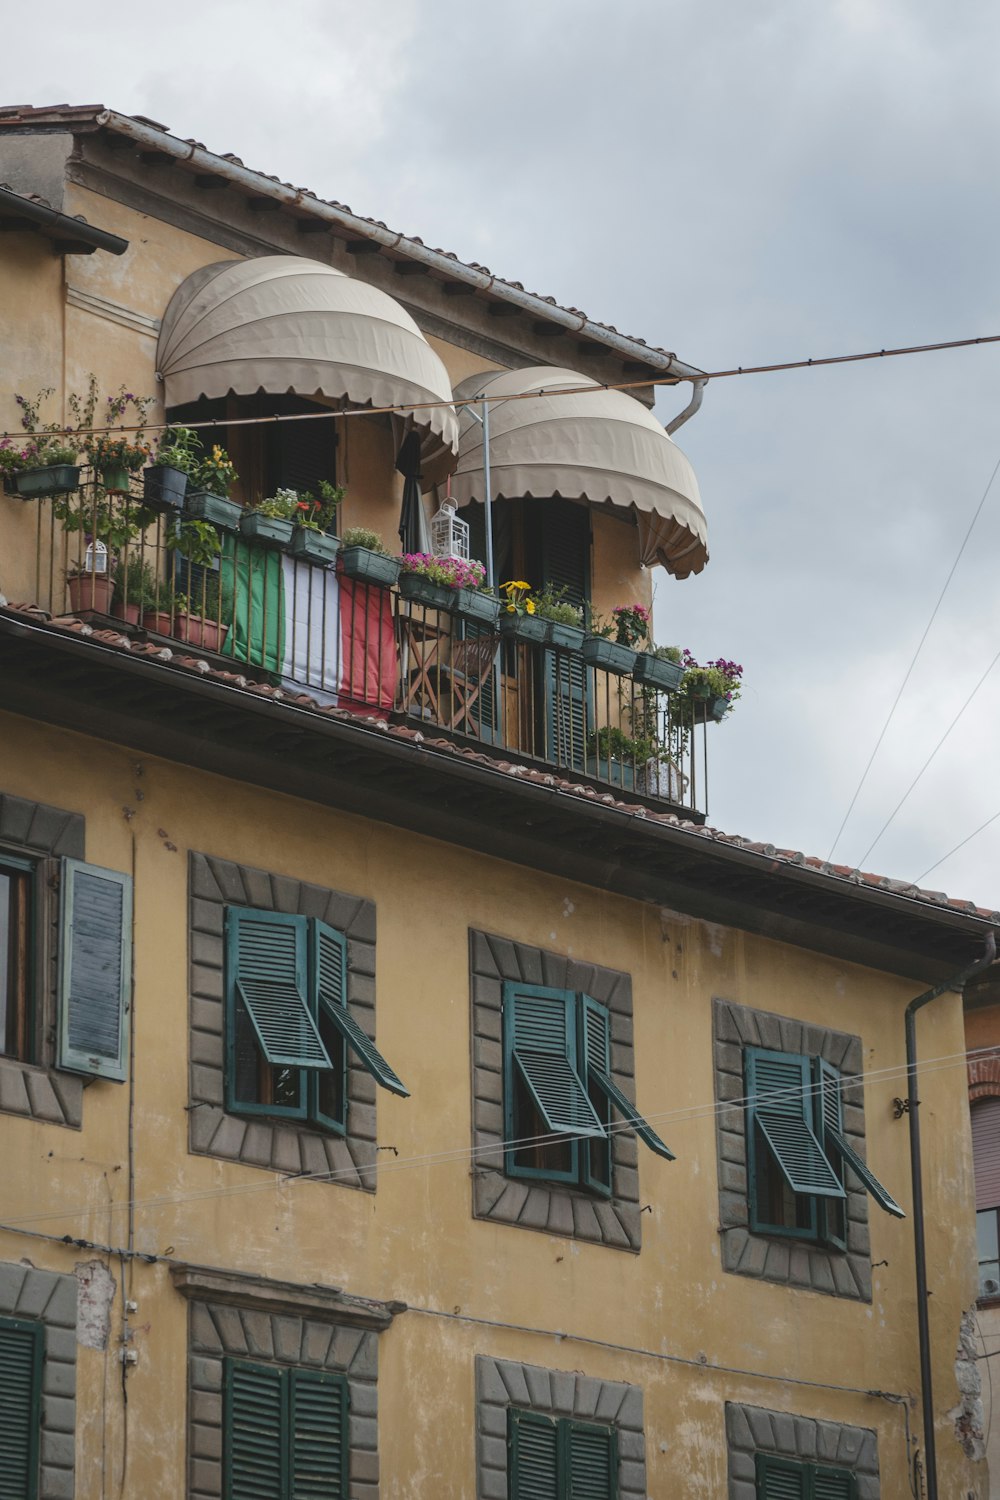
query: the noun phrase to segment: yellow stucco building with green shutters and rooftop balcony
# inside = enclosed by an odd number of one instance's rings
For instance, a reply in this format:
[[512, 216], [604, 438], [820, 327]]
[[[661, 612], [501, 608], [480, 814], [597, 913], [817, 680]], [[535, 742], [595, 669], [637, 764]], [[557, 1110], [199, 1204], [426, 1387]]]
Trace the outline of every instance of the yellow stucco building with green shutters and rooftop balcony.
[[[394, 548], [451, 474], [481, 555], [493, 382], [498, 584], [705, 566], [648, 408], [558, 392], [673, 356], [153, 122], [0, 111], [0, 165], [15, 441], [93, 372], [243, 513], [328, 478]], [[997, 914], [711, 830], [711, 708], [634, 657], [142, 483], [0, 495], [4, 1500], [927, 1492], [903, 1016]], [[919, 1047], [939, 1492], [987, 1500], [958, 993]]]

